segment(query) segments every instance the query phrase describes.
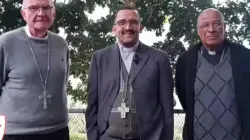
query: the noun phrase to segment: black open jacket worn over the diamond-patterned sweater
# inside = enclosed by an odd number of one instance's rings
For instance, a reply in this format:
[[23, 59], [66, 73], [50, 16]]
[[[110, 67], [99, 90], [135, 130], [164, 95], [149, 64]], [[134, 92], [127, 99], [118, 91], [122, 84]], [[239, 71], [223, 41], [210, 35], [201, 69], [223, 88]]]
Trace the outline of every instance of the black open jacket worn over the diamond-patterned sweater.
[[[245, 140], [250, 140], [250, 50], [244, 46], [224, 41], [231, 49], [232, 72], [238, 115]], [[198, 51], [196, 44], [179, 56], [176, 64], [176, 92], [186, 113], [183, 140], [193, 140], [194, 82]]]

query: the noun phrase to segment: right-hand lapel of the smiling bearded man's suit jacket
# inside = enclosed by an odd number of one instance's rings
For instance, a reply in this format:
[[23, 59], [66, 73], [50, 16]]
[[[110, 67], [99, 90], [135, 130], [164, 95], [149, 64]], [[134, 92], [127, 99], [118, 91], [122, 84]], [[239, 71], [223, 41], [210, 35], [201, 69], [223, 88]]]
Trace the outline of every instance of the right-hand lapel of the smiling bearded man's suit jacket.
[[[140, 73], [143, 66], [146, 64], [149, 54], [147, 53], [147, 46], [140, 42], [137, 51], [135, 52], [134, 58], [137, 59], [137, 64], [132, 61], [131, 71], [130, 71], [130, 83], [132, 83], [136, 76]], [[137, 58], [136, 58], [137, 57]]]

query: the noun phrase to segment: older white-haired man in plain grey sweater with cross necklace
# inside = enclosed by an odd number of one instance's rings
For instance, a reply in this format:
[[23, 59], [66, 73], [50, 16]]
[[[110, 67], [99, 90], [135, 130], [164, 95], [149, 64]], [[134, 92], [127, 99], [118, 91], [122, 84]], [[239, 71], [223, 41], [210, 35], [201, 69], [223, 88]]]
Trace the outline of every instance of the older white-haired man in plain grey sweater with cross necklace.
[[0, 36], [0, 114], [4, 140], [69, 140], [67, 42], [48, 31], [52, 0], [24, 0], [27, 26]]

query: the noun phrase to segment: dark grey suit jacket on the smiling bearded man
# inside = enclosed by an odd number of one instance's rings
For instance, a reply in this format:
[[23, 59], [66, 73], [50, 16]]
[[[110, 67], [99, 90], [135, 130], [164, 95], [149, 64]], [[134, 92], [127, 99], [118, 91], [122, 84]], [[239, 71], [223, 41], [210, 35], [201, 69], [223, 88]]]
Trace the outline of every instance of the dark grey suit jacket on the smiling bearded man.
[[[173, 79], [165, 52], [140, 43], [132, 63], [141, 140], [173, 140]], [[93, 54], [88, 81], [86, 128], [88, 140], [107, 140], [109, 115], [120, 88], [117, 44]]]

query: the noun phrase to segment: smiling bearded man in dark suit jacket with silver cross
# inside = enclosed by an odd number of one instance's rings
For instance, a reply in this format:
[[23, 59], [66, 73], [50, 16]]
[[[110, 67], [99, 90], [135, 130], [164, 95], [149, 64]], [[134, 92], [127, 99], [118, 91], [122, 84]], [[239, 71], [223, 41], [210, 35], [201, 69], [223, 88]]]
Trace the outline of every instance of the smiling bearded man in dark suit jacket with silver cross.
[[173, 79], [167, 53], [139, 41], [138, 11], [115, 17], [118, 43], [93, 54], [88, 140], [173, 140]]

